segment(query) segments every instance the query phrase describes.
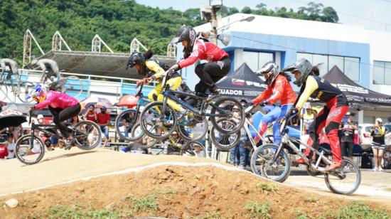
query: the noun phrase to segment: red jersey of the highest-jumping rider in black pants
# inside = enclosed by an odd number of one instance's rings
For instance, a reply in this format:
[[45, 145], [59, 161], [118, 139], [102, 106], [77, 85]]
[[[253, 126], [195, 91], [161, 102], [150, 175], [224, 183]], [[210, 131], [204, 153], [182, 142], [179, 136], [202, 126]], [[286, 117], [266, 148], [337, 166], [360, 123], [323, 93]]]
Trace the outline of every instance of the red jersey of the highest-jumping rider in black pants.
[[215, 43], [197, 40], [194, 43], [191, 55], [188, 58], [181, 60], [178, 65], [179, 68], [185, 68], [189, 65], [193, 65], [198, 59], [215, 62], [222, 60], [225, 57], [228, 57], [228, 53], [218, 47]]

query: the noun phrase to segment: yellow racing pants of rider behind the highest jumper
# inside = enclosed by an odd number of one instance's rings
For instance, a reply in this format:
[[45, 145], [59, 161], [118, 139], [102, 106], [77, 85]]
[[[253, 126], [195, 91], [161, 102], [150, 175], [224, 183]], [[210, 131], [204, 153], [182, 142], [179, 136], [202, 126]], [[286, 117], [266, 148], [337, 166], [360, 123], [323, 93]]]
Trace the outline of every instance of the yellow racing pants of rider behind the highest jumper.
[[[178, 89], [179, 86], [181, 86], [182, 83], [182, 78], [181, 77], [176, 77], [176, 78], [171, 78], [167, 80], [166, 84], [170, 85], [171, 90], [176, 90]], [[151, 90], [148, 94], [148, 99], [151, 101], [163, 101], [164, 95], [160, 93], [161, 92], [161, 82], [157, 84], [154, 88], [154, 90]], [[181, 112], [182, 107], [178, 105], [176, 102], [173, 100], [168, 99], [167, 100], [168, 105], [173, 107], [176, 112]]]

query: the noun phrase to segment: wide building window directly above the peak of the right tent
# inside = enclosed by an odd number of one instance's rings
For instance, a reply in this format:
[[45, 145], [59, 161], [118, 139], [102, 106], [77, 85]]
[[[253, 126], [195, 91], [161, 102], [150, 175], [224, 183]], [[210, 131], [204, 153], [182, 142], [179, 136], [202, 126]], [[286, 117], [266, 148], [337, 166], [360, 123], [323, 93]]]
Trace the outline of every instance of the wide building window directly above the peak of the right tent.
[[[343, 57], [336, 55], [319, 55], [312, 53], [297, 53], [296, 58], [305, 58], [309, 60], [313, 65], [323, 63], [319, 67], [319, 73], [322, 77], [331, 70], [334, 65], [353, 81], [360, 81], [360, 58]], [[391, 79], [391, 78], [390, 78]]]

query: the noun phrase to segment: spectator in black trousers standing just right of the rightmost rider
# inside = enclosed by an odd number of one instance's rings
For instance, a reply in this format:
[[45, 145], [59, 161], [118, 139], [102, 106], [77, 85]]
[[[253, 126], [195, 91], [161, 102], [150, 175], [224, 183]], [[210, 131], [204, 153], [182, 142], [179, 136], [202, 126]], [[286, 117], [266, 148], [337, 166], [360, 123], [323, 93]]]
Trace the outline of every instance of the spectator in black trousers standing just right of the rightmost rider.
[[348, 120], [341, 123], [341, 154], [353, 159], [354, 132], [357, 126], [353, 124], [353, 117], [347, 114]]

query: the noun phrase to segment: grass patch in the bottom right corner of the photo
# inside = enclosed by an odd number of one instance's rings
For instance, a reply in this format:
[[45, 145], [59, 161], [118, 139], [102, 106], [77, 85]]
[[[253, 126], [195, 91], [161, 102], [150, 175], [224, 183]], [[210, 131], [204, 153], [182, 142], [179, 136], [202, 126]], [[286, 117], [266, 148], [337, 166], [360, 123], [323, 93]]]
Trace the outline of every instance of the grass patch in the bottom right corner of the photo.
[[369, 205], [354, 201], [348, 206], [343, 206], [333, 213], [328, 213], [331, 218], [350, 219], [350, 218], [370, 218], [370, 219], [390, 219], [386, 210], [376, 210]]

